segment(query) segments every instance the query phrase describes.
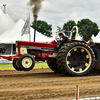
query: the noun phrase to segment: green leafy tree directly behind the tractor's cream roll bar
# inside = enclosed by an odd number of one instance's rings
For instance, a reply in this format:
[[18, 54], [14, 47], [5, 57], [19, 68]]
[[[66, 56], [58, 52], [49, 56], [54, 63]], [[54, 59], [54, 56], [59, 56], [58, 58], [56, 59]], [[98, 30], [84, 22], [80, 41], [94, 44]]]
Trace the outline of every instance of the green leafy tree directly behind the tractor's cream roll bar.
[[[76, 26], [76, 23], [74, 20], [69, 20], [67, 23], [64, 23], [63, 25], [63, 31], [68, 36], [68, 38], [70, 37], [70, 32], [73, 26]], [[75, 34], [76, 34], [76, 30], [73, 32], [72, 39], [75, 38]]]

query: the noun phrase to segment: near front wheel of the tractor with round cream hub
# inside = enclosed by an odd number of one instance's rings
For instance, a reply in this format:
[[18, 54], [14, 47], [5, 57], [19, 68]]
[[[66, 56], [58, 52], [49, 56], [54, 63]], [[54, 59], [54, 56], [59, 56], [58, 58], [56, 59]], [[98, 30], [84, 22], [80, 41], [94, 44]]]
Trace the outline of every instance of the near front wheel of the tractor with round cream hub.
[[35, 65], [35, 59], [29, 54], [24, 54], [19, 58], [18, 65], [23, 71], [29, 71], [33, 69]]

